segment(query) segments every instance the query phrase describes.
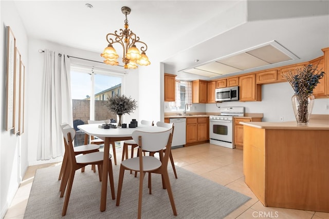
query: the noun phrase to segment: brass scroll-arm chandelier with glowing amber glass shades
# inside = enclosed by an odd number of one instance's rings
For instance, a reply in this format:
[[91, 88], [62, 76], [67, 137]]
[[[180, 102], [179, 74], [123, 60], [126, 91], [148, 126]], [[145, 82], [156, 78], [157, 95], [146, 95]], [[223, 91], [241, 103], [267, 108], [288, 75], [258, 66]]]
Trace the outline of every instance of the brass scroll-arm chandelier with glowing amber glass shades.
[[[106, 41], [108, 46], [104, 49], [104, 53], [101, 54], [105, 58], [104, 63], [107, 65], [117, 66], [118, 57], [117, 51], [113, 48], [113, 44], [119, 43], [123, 49], [122, 62], [125, 69], [136, 69], [138, 65], [148, 66], [150, 65], [149, 57], [145, 54], [148, 49], [148, 45], [139, 40], [133, 31], [131, 31], [128, 25], [127, 14], [130, 14], [131, 9], [129, 7], [122, 7], [121, 11], [125, 14], [124, 29], [120, 29], [119, 33], [116, 30], [114, 33], [108, 33], [106, 35]], [[136, 43], [141, 44], [140, 50], [136, 47]]]

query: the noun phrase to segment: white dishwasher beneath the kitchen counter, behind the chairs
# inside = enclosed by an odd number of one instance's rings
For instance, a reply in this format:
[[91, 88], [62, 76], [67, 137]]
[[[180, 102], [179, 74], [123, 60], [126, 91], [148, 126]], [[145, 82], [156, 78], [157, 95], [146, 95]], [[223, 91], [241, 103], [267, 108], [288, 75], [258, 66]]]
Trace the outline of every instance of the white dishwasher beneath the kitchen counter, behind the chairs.
[[186, 144], [186, 118], [170, 118], [169, 122], [174, 124], [174, 136], [171, 147], [184, 146]]

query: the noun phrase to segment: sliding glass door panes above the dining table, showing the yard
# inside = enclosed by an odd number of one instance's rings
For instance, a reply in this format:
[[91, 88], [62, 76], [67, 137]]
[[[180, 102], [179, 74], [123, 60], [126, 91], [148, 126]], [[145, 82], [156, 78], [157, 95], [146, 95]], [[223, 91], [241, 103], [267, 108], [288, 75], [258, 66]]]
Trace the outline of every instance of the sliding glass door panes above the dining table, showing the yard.
[[73, 120], [107, 120], [116, 114], [104, 102], [120, 90], [122, 76], [107, 70], [71, 66], [71, 97]]

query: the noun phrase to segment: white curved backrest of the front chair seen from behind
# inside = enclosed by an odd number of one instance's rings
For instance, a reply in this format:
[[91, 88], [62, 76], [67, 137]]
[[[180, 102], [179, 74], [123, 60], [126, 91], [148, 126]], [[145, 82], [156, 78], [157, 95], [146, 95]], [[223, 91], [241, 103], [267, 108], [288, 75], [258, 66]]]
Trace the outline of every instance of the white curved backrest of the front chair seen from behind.
[[156, 152], [170, 145], [171, 131], [172, 129], [163, 132], [134, 131], [132, 137], [142, 150]]

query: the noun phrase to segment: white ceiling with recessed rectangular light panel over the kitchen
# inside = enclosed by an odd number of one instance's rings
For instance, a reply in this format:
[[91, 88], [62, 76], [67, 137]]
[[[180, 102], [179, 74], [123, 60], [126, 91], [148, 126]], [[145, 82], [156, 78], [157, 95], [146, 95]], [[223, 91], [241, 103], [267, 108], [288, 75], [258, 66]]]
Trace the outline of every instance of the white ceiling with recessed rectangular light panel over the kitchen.
[[[87, 3], [93, 8], [86, 7]], [[123, 28], [121, 7], [129, 6], [129, 27], [148, 44], [151, 64], [165, 63], [165, 71], [181, 79], [210, 80], [308, 61], [322, 55], [321, 48], [329, 46], [329, 1], [90, 0], [14, 4], [28, 37], [96, 53], [102, 53], [107, 46], [107, 33]], [[120, 55], [120, 48], [116, 49]], [[271, 60], [273, 57], [278, 58]]]

